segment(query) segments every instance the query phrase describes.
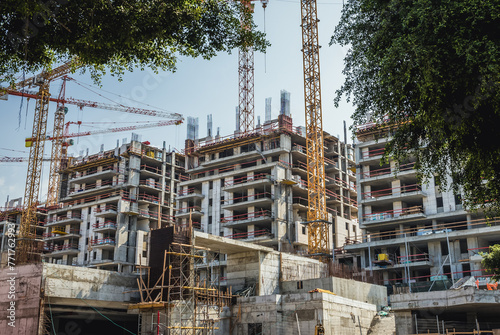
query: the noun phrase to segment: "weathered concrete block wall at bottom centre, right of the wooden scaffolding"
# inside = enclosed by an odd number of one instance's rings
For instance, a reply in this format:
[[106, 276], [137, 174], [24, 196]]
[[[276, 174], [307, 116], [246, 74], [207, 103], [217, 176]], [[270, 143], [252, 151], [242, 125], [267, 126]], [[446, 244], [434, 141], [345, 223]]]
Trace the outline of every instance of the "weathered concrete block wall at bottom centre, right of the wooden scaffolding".
[[326, 335], [367, 334], [376, 306], [328, 293], [297, 293], [240, 298], [233, 315], [241, 307], [241, 320], [232, 335], [246, 335], [249, 327], [262, 326], [262, 334], [314, 334], [318, 321]]

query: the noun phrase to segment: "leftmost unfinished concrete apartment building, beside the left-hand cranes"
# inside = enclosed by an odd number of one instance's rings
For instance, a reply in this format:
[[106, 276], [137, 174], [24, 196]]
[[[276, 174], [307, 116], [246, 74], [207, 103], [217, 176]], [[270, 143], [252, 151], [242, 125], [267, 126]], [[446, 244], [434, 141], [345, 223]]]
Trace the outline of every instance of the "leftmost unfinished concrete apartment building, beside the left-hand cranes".
[[150, 229], [174, 221], [184, 156], [132, 141], [71, 160], [48, 212], [44, 260], [119, 272], [147, 264]]

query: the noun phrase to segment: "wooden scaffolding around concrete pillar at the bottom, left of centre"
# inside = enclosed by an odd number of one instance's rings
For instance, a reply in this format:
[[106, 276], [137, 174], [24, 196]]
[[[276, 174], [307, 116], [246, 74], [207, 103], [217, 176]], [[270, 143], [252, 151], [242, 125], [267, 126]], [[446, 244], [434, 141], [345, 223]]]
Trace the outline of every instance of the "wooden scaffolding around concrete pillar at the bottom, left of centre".
[[129, 306], [139, 309], [139, 334], [211, 335], [219, 329], [232, 294], [220, 289], [219, 253], [196, 247], [192, 234], [191, 225], [175, 228], [159, 276], [139, 266], [141, 302]]

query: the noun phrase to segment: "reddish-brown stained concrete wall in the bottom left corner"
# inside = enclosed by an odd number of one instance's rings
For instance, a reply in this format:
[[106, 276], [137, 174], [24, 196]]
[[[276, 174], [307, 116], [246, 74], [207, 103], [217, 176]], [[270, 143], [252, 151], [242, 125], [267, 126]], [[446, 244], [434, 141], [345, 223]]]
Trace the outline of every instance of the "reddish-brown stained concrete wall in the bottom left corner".
[[[10, 281], [12, 277], [15, 277], [15, 280]], [[17, 266], [14, 270], [9, 268], [0, 270], [1, 334], [38, 334], [41, 282], [42, 264]]]

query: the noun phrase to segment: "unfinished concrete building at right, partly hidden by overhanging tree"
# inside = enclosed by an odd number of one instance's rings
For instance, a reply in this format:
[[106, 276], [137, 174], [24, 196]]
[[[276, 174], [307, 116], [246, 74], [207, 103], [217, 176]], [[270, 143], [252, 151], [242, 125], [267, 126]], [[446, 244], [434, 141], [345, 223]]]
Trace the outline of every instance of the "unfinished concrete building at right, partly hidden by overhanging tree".
[[[500, 222], [464, 210], [460, 194], [440, 190], [434, 179], [419, 183], [414, 159], [399, 166], [394, 161], [382, 162], [389, 131], [389, 127], [374, 124], [358, 130], [355, 151], [363, 235], [348, 240], [344, 252], [353, 255], [361, 268], [378, 272], [390, 292], [394, 289], [390, 300], [401, 312], [396, 324], [405, 325], [398, 328], [398, 334], [416, 333], [417, 325], [421, 332], [436, 331], [424, 325], [431, 319], [435, 325], [437, 314], [448, 322], [449, 327], [444, 326], [450, 330], [453, 322], [464, 319], [463, 313], [474, 314], [467, 320], [491, 321], [491, 313], [479, 315], [481, 309], [475, 305], [467, 307], [464, 300], [443, 297], [451, 294], [446, 290], [454, 284], [454, 288], [459, 287], [471, 276], [489, 282], [479, 252], [487, 252], [490, 245], [500, 242]], [[436, 290], [444, 291], [433, 295]], [[480, 295], [479, 285], [476, 290]], [[497, 292], [490, 295], [498, 298]], [[425, 303], [430, 297], [441, 302]], [[440, 308], [443, 301], [449, 304], [445, 314]], [[472, 331], [472, 326], [475, 323], [469, 324], [467, 331]]]

